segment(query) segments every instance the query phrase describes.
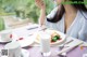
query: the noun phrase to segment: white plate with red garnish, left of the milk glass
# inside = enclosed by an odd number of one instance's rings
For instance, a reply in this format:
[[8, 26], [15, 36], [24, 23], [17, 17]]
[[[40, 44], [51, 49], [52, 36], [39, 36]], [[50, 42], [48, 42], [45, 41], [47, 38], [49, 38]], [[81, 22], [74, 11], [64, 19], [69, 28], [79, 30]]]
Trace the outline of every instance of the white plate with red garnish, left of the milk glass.
[[33, 44], [35, 42], [35, 35], [30, 34], [30, 35], [25, 35], [25, 37], [21, 37], [17, 35], [16, 33], [14, 33], [13, 40], [12, 41], [17, 41], [21, 44], [21, 47], [26, 47], [29, 46], [30, 44]]

